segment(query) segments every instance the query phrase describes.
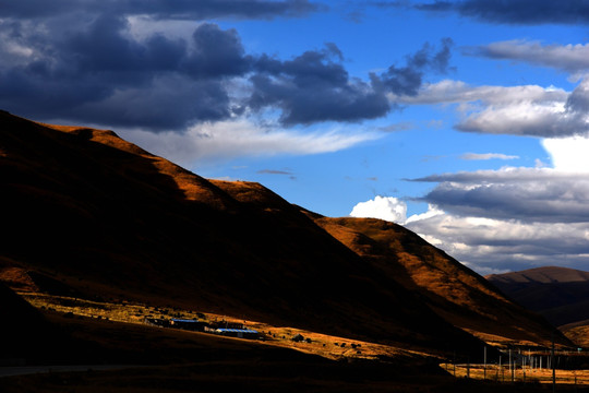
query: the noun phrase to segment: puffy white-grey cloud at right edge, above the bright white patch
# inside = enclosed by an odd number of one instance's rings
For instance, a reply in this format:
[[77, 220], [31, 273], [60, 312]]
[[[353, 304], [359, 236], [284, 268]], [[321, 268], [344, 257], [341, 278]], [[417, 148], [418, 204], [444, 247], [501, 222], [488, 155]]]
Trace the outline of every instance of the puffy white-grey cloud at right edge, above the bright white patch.
[[570, 93], [554, 87], [471, 86], [459, 81], [424, 85], [401, 104], [457, 104], [455, 129], [466, 132], [564, 138], [589, 131], [589, 79]]

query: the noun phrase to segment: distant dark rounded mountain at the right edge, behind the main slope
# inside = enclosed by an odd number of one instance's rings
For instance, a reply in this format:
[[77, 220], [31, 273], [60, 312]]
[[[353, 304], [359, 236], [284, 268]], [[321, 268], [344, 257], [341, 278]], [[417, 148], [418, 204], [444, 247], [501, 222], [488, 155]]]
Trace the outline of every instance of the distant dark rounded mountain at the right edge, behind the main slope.
[[545, 266], [486, 279], [556, 326], [589, 320], [589, 272]]

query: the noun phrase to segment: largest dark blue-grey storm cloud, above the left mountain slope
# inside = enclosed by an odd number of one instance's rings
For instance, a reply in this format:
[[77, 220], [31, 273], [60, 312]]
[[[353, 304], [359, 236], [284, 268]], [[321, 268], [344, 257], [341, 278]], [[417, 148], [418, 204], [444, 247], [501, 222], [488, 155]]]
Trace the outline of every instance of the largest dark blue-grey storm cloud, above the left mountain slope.
[[233, 29], [204, 23], [193, 43], [161, 35], [139, 41], [125, 34], [127, 20], [111, 14], [55, 36], [26, 24], [9, 27], [17, 43], [36, 50], [0, 66], [0, 106], [16, 114], [158, 130], [242, 110], [226, 86], [228, 78], [250, 68]]

